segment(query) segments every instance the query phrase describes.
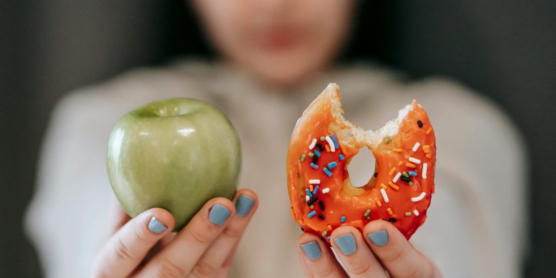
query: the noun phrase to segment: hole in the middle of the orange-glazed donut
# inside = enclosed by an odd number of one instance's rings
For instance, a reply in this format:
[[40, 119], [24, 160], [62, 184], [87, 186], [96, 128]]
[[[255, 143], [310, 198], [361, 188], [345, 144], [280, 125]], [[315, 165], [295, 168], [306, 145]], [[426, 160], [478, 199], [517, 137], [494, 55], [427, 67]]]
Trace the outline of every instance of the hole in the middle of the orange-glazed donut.
[[361, 188], [368, 185], [375, 174], [376, 158], [373, 152], [366, 148], [359, 149], [359, 153], [351, 158], [347, 165], [347, 172], [351, 180], [351, 186]]

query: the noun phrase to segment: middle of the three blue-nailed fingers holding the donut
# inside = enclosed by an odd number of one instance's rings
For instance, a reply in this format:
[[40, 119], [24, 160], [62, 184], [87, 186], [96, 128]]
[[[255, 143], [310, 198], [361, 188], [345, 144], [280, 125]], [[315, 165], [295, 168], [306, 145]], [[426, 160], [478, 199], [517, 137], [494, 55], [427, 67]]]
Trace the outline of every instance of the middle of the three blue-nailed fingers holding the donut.
[[358, 229], [341, 226], [332, 232], [330, 242], [350, 277], [388, 277]]

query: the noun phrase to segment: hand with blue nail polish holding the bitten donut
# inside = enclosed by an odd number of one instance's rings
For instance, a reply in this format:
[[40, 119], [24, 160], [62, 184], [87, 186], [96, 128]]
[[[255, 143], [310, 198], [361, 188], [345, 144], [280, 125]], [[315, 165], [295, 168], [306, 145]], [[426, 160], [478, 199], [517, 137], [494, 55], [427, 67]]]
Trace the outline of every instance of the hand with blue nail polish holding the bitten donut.
[[[365, 236], [363, 236], [365, 235]], [[361, 232], [341, 226], [330, 242], [345, 270], [321, 237], [304, 233], [297, 240], [306, 277], [440, 278], [438, 268], [405, 239], [394, 225], [371, 221]]]

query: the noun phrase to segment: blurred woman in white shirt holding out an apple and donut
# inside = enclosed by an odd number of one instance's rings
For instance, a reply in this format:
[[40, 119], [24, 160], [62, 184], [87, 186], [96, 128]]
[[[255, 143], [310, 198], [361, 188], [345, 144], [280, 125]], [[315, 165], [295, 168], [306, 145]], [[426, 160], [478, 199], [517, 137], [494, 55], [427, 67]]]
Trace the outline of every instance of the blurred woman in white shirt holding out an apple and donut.
[[[497, 107], [443, 78], [407, 82], [378, 65], [332, 66], [349, 36], [354, 1], [192, 4], [220, 62], [138, 69], [58, 105], [27, 216], [48, 277], [519, 275], [527, 169], [520, 134]], [[380, 127], [414, 98], [428, 110], [439, 150], [437, 189], [415, 247], [384, 221], [369, 223], [363, 235], [345, 226], [331, 235], [342, 267], [319, 238], [299, 236], [284, 157], [297, 117], [329, 82], [341, 86], [346, 117], [364, 128]], [[242, 141], [240, 185], [251, 190], [239, 190], [233, 202], [209, 201], [171, 234], [165, 210], [130, 220], [117, 205], [109, 209], [105, 150], [122, 114], [176, 96], [207, 100], [230, 117]], [[368, 178], [364, 166], [350, 165], [354, 179]]]

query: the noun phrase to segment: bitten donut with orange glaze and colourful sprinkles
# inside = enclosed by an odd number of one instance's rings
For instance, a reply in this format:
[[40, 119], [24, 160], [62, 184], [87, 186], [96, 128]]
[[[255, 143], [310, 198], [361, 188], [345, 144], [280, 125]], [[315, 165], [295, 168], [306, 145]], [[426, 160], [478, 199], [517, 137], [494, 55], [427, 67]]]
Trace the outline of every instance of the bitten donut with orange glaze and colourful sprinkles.
[[[286, 159], [292, 217], [329, 243], [339, 226], [363, 231], [376, 219], [390, 221], [409, 240], [434, 193], [436, 145], [425, 110], [413, 100], [376, 132], [343, 114], [339, 87], [331, 83], [297, 120]], [[354, 186], [347, 165], [364, 147], [373, 152], [375, 169], [367, 184]]]

